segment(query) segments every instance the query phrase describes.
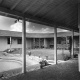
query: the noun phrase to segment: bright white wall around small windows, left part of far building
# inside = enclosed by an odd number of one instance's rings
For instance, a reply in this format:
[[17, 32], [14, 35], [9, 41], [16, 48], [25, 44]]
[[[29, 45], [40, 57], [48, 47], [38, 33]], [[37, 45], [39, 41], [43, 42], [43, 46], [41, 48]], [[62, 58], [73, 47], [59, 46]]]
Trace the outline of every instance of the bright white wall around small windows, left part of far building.
[[[26, 48], [31, 48], [31, 39], [26, 39]], [[7, 37], [0, 37], [0, 51], [4, 51], [10, 48], [10, 44], [7, 44]], [[11, 48], [22, 48], [22, 44], [17, 43], [17, 38], [12, 38]]]

